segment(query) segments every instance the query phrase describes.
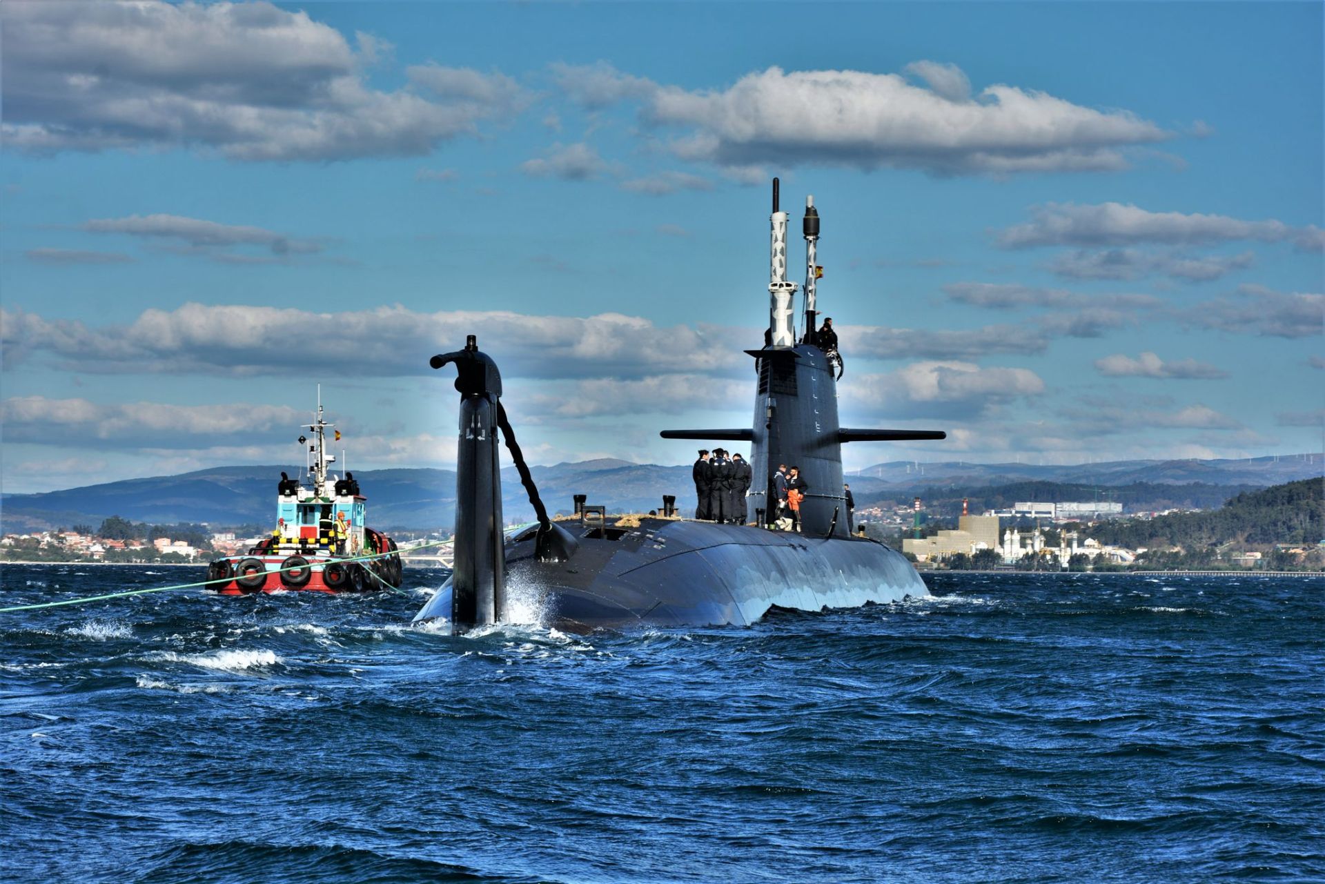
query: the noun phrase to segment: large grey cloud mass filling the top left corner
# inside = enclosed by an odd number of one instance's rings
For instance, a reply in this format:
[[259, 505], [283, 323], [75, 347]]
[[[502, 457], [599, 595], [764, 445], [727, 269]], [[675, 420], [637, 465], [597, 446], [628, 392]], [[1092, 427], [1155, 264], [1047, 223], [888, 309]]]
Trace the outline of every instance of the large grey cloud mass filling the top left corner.
[[358, 50], [306, 12], [269, 3], [13, 3], [3, 61], [8, 148], [205, 148], [237, 160], [431, 152], [518, 113], [510, 78], [419, 65], [382, 91]]

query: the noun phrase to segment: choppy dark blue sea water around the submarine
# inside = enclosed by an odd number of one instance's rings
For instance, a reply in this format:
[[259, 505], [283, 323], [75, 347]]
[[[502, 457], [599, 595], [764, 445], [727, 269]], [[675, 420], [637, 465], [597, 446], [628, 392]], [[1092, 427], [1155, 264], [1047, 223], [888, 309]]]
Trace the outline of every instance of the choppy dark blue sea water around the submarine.
[[[747, 628], [0, 614], [5, 881], [1325, 879], [1325, 580], [937, 574]], [[0, 604], [203, 569], [0, 569]]]

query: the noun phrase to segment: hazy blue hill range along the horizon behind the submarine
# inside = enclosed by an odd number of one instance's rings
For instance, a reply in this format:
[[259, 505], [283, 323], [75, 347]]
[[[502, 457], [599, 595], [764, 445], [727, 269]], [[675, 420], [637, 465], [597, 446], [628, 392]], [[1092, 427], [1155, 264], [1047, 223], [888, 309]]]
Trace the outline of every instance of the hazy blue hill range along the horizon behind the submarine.
[[[273, 520], [276, 482], [281, 467], [216, 467], [180, 476], [131, 478], [41, 494], [0, 496], [0, 530], [24, 533], [76, 524], [99, 525], [122, 516], [154, 525], [205, 522], [215, 526]], [[285, 468], [289, 469], [289, 468]], [[600, 459], [576, 464], [533, 467], [530, 472], [549, 512], [571, 510], [572, 494], [610, 510], [660, 509], [662, 494], [676, 494], [682, 510], [694, 506], [690, 465], [661, 467]], [[992, 506], [995, 500], [1117, 500], [1129, 510], [1173, 505], [1215, 506], [1240, 492], [1321, 476], [1321, 456], [1259, 457], [1252, 460], [1118, 461], [1077, 467], [1031, 464], [967, 464], [962, 461], [877, 464], [848, 474], [857, 506], [869, 501], [905, 501], [921, 493], [926, 501], [945, 498], [959, 506]], [[368, 521], [382, 529], [435, 529], [454, 521], [456, 474], [449, 469], [355, 470], [368, 497]], [[999, 486], [1016, 482], [1053, 485]], [[1200, 485], [1191, 485], [1199, 482]], [[507, 521], [533, 520], [533, 508], [514, 468], [502, 470]], [[1113, 497], [1109, 490], [1113, 489]], [[1024, 497], [1022, 494], [1026, 494]], [[1094, 494], [1096, 497], [1090, 497]], [[955, 501], [955, 502], [954, 502]], [[1199, 502], [1195, 502], [1199, 501]]]

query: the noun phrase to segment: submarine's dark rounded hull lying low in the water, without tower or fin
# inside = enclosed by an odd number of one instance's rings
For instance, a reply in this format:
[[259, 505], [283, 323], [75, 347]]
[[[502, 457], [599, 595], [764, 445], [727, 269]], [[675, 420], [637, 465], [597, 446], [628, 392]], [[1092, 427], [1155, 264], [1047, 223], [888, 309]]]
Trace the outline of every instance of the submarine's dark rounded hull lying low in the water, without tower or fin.
[[[747, 626], [772, 607], [819, 611], [929, 594], [900, 553], [865, 538], [674, 520], [584, 527], [564, 562], [539, 562], [526, 531], [507, 543], [506, 565], [513, 603], [575, 631]], [[450, 619], [450, 596], [444, 587], [415, 620]]]

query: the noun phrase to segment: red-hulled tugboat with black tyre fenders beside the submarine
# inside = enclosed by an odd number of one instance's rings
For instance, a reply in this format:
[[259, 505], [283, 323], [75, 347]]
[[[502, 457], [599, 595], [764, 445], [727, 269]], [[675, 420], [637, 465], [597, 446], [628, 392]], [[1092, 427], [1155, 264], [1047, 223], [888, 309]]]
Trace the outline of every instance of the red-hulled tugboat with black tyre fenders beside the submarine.
[[[246, 555], [227, 555], [207, 566], [211, 588], [221, 595], [311, 591], [364, 592], [399, 587], [403, 578], [396, 542], [366, 525], [367, 498], [354, 473], [329, 474], [335, 456], [326, 451], [326, 433], [341, 439], [335, 424], [323, 419], [318, 394], [307, 474], [302, 484], [281, 473], [277, 484], [276, 530]], [[299, 444], [307, 444], [299, 436]]]

